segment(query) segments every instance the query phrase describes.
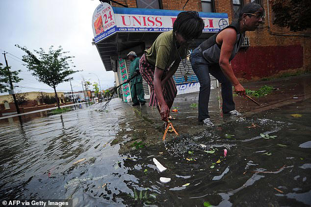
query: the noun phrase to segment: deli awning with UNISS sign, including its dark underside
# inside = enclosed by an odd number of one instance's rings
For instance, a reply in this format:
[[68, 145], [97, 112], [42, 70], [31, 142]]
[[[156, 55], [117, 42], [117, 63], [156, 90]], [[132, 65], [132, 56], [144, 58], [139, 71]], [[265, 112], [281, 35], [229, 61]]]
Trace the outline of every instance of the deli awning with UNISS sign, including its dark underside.
[[[92, 26], [94, 42], [106, 71], [116, 70], [118, 56], [129, 50], [143, 51], [153, 43], [159, 33], [173, 29], [181, 11], [112, 7], [100, 4], [94, 11]], [[205, 22], [203, 34], [193, 42], [193, 47], [229, 25], [227, 13], [199, 12]], [[138, 53], [139, 54], [139, 53]]]

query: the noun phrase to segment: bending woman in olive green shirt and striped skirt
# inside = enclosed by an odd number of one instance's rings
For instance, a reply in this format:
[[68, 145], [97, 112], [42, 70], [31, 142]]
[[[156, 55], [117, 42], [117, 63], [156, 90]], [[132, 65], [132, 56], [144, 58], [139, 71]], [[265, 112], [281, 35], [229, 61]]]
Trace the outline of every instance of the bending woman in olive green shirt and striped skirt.
[[181, 12], [173, 24], [173, 30], [161, 33], [140, 58], [139, 72], [151, 90], [149, 106], [157, 106], [163, 121], [169, 117], [177, 94], [172, 76], [181, 58], [186, 57], [189, 42], [198, 38], [203, 28], [204, 22], [198, 12]]

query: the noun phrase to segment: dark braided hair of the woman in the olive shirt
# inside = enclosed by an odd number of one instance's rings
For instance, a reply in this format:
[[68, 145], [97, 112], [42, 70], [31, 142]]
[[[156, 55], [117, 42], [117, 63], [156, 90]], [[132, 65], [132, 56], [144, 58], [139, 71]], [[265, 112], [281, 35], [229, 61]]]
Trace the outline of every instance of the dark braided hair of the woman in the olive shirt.
[[182, 37], [192, 40], [198, 38], [203, 31], [204, 22], [196, 11], [182, 11], [173, 24], [173, 33], [178, 32]]

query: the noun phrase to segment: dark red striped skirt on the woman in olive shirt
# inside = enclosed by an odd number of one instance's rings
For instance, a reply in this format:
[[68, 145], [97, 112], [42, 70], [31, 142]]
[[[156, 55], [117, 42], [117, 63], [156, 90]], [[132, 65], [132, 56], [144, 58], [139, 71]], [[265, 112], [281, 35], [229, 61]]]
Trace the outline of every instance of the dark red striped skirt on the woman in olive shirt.
[[[141, 76], [146, 80], [148, 85], [150, 86], [150, 101], [149, 106], [156, 106], [158, 105], [158, 101], [156, 99], [156, 92], [154, 87], [154, 74], [155, 74], [155, 66], [151, 65], [147, 59], [145, 54], [141, 56], [139, 60], [139, 72]], [[164, 70], [164, 73], [162, 75], [161, 79], [164, 79], [168, 70]], [[163, 98], [164, 101], [167, 102], [173, 102], [176, 95], [177, 95], [177, 88], [174, 83], [173, 77], [169, 78], [164, 88], [162, 88]]]

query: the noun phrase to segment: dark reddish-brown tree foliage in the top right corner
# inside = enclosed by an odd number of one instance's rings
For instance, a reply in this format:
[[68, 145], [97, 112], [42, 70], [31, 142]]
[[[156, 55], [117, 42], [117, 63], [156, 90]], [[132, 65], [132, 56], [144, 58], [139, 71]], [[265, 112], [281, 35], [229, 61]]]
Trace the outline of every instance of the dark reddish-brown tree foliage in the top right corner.
[[311, 0], [270, 0], [275, 14], [273, 24], [302, 31], [311, 28]]

